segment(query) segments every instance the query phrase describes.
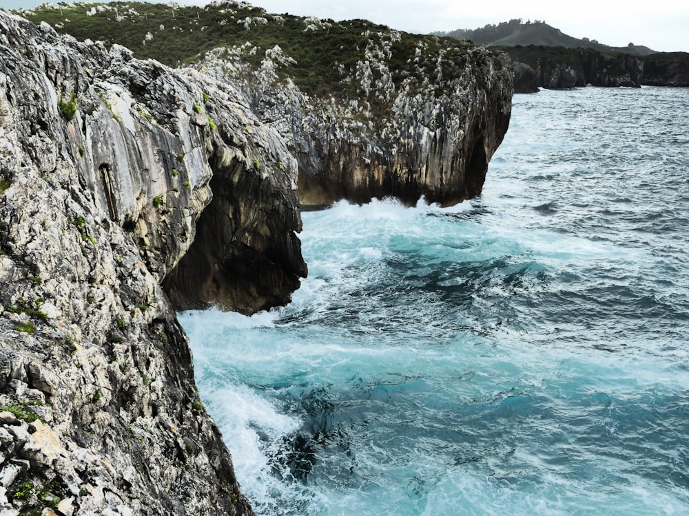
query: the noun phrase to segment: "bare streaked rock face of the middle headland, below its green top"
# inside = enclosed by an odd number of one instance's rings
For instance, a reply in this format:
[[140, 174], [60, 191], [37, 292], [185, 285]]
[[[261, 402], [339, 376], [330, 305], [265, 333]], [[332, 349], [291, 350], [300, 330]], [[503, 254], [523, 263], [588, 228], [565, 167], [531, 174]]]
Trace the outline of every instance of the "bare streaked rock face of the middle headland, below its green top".
[[[316, 22], [311, 30], [326, 30]], [[296, 62], [278, 46], [258, 67], [248, 43], [209, 52], [198, 67], [243, 84], [260, 118], [282, 132], [304, 208], [387, 196], [449, 205], [479, 195], [509, 124], [508, 56], [419, 40], [407, 60], [396, 54], [399, 32], [362, 36], [364, 60], [342, 79], [353, 93], [338, 98], [300, 91], [289, 78]], [[408, 68], [397, 74], [391, 62], [402, 58]]]

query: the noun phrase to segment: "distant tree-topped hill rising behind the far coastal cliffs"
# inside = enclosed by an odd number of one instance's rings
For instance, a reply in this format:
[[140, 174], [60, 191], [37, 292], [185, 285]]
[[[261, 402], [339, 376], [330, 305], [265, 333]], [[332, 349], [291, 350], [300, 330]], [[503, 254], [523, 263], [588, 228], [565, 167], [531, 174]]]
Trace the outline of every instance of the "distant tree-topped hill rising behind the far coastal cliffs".
[[564, 32], [555, 27], [551, 27], [551, 25], [544, 21], [538, 20], [524, 22], [521, 19], [513, 19], [503, 21], [497, 25], [486, 25], [479, 29], [457, 29], [452, 32], [438, 33], [438, 35], [469, 39], [477, 45], [485, 46], [540, 45], [547, 47], [590, 48], [599, 52], [624, 53], [635, 56], [655, 54], [655, 50], [642, 45], [632, 45], [630, 43], [626, 47], [610, 47], [599, 43], [595, 39], [577, 39], [564, 34]]

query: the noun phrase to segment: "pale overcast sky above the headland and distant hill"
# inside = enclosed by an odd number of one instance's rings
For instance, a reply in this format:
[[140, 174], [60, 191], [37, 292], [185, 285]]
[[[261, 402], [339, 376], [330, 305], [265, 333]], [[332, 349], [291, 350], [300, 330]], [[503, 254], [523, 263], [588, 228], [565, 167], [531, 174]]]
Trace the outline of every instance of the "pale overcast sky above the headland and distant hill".
[[[177, 0], [204, 6], [209, 0]], [[41, 0], [0, 0], [6, 9], [30, 8]], [[165, 2], [161, 2], [165, 3]], [[428, 33], [475, 29], [510, 19], [545, 21], [576, 38], [606, 45], [646, 45], [658, 52], [689, 52], [689, 1], [655, 0], [254, 0], [268, 12], [343, 19], [364, 18], [393, 29]]]

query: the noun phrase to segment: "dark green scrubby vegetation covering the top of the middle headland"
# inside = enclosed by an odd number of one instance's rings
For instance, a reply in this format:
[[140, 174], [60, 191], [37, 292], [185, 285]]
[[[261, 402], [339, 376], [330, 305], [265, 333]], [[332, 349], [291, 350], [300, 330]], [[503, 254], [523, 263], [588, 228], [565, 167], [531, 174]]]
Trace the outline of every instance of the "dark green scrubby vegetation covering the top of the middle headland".
[[[170, 66], [193, 63], [214, 48], [246, 42], [257, 47], [247, 61], [259, 65], [266, 50], [280, 45], [287, 56], [297, 61], [290, 67], [294, 83], [302, 91], [319, 96], [351, 94], [342, 78], [351, 74], [358, 61], [365, 61], [369, 39], [378, 37], [378, 32], [389, 32], [385, 25], [360, 19], [312, 23], [305, 17], [269, 14], [263, 8], [229, 1], [206, 7], [141, 2], [52, 3], [19, 14], [34, 23], [45, 21], [76, 39], [100, 40], [107, 46], [118, 43], [137, 58], [154, 58]], [[247, 18], [251, 19], [249, 30], [245, 28]], [[310, 23], [317, 30], [307, 30]], [[387, 63], [395, 82], [408, 73], [408, 61], [413, 59], [419, 41], [426, 43], [424, 61], [429, 65], [442, 49], [465, 52], [473, 47], [453, 38], [400, 32], [400, 41], [393, 43], [393, 55]]]

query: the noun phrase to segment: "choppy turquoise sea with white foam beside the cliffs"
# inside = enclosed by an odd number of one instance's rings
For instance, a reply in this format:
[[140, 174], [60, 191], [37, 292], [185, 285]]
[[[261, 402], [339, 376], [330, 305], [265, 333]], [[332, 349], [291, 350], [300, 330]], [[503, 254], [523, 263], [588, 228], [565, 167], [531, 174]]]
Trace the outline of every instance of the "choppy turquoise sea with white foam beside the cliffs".
[[515, 95], [480, 197], [304, 213], [179, 314], [259, 516], [689, 514], [689, 89]]

